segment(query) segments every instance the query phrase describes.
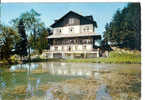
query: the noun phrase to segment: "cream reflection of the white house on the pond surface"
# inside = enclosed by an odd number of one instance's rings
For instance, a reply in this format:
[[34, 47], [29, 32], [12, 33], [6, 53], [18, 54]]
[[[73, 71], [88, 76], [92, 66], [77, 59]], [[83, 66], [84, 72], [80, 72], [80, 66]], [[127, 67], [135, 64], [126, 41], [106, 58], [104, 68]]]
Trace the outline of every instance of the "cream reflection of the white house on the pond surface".
[[51, 74], [66, 76], [91, 76], [94, 71], [94, 67], [85, 67], [85, 64], [42, 63], [42, 67], [42, 69], [48, 70]]

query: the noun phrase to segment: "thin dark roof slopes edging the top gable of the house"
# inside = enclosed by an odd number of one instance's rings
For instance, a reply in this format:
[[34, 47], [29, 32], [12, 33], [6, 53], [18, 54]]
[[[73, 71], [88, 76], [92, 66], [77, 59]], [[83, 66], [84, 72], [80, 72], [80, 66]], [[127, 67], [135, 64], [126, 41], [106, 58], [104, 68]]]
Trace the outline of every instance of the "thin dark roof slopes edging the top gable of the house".
[[59, 23], [60, 21], [62, 21], [69, 14], [75, 14], [75, 15], [81, 17], [81, 18], [84, 18], [84, 19], [92, 22], [97, 27], [97, 23], [96, 23], [96, 21], [93, 20], [93, 17], [92, 16], [82, 16], [82, 15], [80, 15], [80, 14], [74, 12], [74, 11], [69, 11], [67, 14], [65, 14], [64, 16], [62, 16], [60, 19], [55, 20], [55, 22], [52, 25], [50, 25], [50, 27], [54, 27], [57, 23]]

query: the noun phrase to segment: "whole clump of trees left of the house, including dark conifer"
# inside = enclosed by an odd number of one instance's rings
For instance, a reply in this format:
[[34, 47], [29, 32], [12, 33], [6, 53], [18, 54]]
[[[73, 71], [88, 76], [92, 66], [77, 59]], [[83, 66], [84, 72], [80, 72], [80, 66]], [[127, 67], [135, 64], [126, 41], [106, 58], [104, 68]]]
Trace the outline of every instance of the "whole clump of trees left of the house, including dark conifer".
[[0, 24], [0, 60], [6, 59], [10, 62], [10, 57], [14, 54], [27, 56], [27, 48], [29, 51], [30, 48], [38, 50], [39, 53], [48, 48], [46, 37], [49, 30], [44, 27], [39, 17], [40, 14], [31, 9], [13, 19], [12, 27]]

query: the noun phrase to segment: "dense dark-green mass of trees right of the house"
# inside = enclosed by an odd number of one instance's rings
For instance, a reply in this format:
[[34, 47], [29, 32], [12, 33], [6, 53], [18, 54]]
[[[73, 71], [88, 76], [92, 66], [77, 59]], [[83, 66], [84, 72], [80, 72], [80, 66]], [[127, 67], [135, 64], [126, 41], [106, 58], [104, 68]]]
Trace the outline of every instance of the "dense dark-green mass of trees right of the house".
[[141, 49], [141, 14], [139, 3], [129, 3], [117, 10], [113, 20], [105, 26], [104, 39], [121, 47]]

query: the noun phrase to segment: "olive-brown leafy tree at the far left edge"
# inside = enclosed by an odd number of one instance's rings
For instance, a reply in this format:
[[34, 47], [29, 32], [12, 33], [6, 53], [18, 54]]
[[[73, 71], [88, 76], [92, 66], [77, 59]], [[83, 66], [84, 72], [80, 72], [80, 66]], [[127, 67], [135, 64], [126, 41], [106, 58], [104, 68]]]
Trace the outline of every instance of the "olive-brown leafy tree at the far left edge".
[[14, 54], [14, 49], [19, 36], [17, 32], [8, 26], [0, 25], [0, 58], [11, 63], [10, 56]]

